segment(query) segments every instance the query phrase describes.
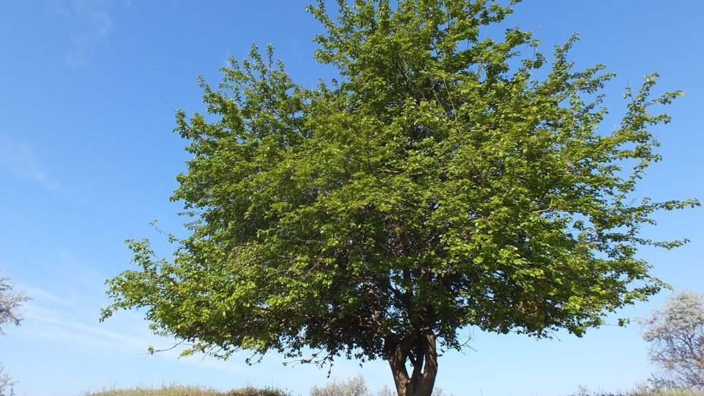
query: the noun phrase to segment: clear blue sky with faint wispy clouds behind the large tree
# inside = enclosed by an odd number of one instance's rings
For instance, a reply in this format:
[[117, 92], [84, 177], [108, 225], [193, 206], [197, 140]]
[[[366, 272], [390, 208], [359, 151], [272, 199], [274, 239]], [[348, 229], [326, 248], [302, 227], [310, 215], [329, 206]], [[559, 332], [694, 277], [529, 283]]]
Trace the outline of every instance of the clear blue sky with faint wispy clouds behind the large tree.
[[[104, 388], [178, 383], [222, 390], [275, 386], [307, 395], [328, 380], [315, 366], [284, 366], [269, 354], [247, 366], [178, 358], [147, 329], [144, 312], [121, 311], [99, 323], [110, 300], [104, 281], [133, 268], [124, 240], [150, 237], [149, 225], [182, 233], [182, 209], [170, 202], [184, 171], [186, 144], [172, 132], [175, 109], [203, 111], [199, 75], [217, 84], [230, 56], [251, 44], [275, 55], [301, 85], [334, 76], [313, 61], [322, 32], [307, 1], [26, 0], [0, 4], [0, 271], [32, 299], [20, 327], [0, 336], [0, 362], [18, 395], [82, 395]], [[623, 89], [658, 72], [658, 92], [682, 89], [667, 109], [672, 123], [655, 130], [664, 161], [639, 187], [653, 199], [704, 198], [704, 33], [700, 0], [526, 0], [500, 29], [534, 32], [551, 54], [572, 32], [582, 40], [577, 68], [605, 63], [617, 73], [606, 89], [612, 130], [625, 108]], [[643, 235], [688, 237], [667, 252], [641, 249], [653, 274], [674, 290], [704, 292], [704, 209], [658, 214]], [[161, 241], [161, 242], [160, 242]], [[463, 352], [439, 359], [436, 384], [448, 393], [482, 396], [567, 395], [627, 390], [653, 372], [641, 329], [613, 326], [646, 316], [671, 292], [608, 318], [609, 326], [577, 339], [492, 335], [468, 328]], [[362, 375], [372, 389], [392, 385], [387, 364], [337, 361], [331, 378]]]

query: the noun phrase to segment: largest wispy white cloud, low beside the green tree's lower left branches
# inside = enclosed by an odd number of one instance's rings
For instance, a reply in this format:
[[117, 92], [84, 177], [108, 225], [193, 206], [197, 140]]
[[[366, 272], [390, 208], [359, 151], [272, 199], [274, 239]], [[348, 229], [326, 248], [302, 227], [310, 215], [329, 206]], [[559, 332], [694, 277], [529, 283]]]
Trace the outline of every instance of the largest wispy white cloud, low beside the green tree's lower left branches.
[[[22, 331], [37, 341], [57, 348], [111, 351], [123, 356], [149, 355], [150, 346], [169, 349], [177, 340], [154, 335], [146, 326], [143, 311], [120, 311], [99, 323], [101, 307], [110, 304], [103, 284], [105, 276], [81, 263], [68, 249], [56, 254], [56, 265], [44, 268], [49, 280], [20, 283], [18, 287], [31, 298], [25, 304]], [[56, 284], [52, 284], [56, 282]], [[210, 357], [179, 359], [178, 347], [155, 354], [154, 359], [182, 361], [203, 369], [242, 373], [244, 366]]]

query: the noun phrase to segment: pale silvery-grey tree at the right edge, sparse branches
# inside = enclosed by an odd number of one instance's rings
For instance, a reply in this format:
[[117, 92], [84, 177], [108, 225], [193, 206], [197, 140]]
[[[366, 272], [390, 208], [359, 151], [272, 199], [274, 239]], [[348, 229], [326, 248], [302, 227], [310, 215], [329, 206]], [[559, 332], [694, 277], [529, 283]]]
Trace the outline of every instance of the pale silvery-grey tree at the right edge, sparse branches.
[[651, 342], [650, 360], [662, 369], [653, 383], [704, 390], [704, 295], [679, 292], [639, 321], [643, 340]]

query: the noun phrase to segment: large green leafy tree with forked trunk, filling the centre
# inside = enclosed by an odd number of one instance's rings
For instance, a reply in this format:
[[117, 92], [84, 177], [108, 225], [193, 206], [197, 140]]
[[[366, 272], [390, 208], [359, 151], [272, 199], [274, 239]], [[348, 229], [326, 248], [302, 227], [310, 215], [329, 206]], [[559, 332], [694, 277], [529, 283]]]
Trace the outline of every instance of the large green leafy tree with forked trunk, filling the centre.
[[609, 132], [612, 74], [573, 70], [577, 37], [548, 62], [529, 32], [486, 35], [510, 5], [338, 6], [309, 10], [339, 81], [297, 85], [270, 47], [201, 80], [210, 116], [177, 113], [189, 236], [169, 236], [172, 260], [128, 241], [139, 269], [108, 281], [103, 319], [146, 308], [184, 354], [386, 359], [398, 395], [427, 396], [461, 328], [582, 336], [660, 290], [637, 248], [685, 241], [639, 230], [698, 202], [633, 199], [670, 121], [651, 110], [680, 92], [647, 76]]

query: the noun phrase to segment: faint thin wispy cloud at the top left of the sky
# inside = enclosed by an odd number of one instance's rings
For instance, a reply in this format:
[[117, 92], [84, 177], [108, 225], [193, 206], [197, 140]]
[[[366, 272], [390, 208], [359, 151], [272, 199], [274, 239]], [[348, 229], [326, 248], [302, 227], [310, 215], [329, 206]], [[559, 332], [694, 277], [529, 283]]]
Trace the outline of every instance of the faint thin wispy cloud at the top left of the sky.
[[[71, 25], [71, 47], [66, 54], [69, 66], [80, 66], [113, 27], [108, 12], [111, 2], [104, 0], [55, 0], [54, 8]], [[123, 3], [130, 6], [130, 1]]]

